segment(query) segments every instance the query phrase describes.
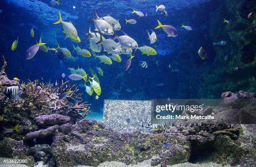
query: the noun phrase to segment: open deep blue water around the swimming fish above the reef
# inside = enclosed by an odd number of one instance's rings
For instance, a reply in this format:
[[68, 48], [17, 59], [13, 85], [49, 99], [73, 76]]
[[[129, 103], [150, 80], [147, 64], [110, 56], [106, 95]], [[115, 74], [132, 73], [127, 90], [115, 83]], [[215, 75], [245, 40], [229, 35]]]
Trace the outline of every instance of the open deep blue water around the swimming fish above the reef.
[[[163, 12], [156, 12], [155, 5], [164, 4], [168, 16]], [[1, 0], [0, 9], [0, 53], [5, 55], [8, 66], [6, 72], [9, 78], [18, 77], [22, 81], [40, 79], [43, 81], [51, 81], [55, 83], [61, 78], [61, 74], [65, 73], [69, 76], [68, 68], [83, 68], [87, 73], [89, 66], [96, 71], [95, 67], [100, 67], [104, 71], [104, 76], [98, 75], [100, 78], [100, 86], [102, 94], [99, 99], [95, 99], [95, 95], [89, 96], [84, 88], [80, 88], [84, 92], [83, 99], [92, 104], [92, 113], [88, 115], [90, 119], [102, 120], [102, 110], [104, 99], [123, 99], [123, 100], [150, 100], [150, 99], [166, 99], [178, 98], [177, 76], [179, 71], [189, 71], [187, 63], [183, 61], [177, 63], [179, 55], [183, 51], [189, 50], [191, 56], [197, 56], [198, 48], [207, 47], [208, 59], [206, 62], [210, 64], [213, 61], [212, 41], [207, 38], [209, 36], [209, 18], [210, 12], [218, 8], [220, 0], [61, 0], [60, 5], [51, 5], [50, 0]], [[133, 8], [147, 13], [147, 17], [139, 18], [135, 14], [131, 14]], [[131, 67], [128, 71], [124, 71], [124, 63], [128, 60], [127, 55], [121, 55], [123, 59], [121, 63], [113, 61], [112, 65], [100, 63], [94, 57], [84, 58], [77, 56], [74, 52], [72, 56], [77, 58], [77, 61], [63, 61], [55, 55], [48, 52], [38, 51], [36, 56], [31, 60], [26, 60], [26, 50], [36, 44], [40, 36], [46, 46], [56, 47], [56, 41], [61, 47], [67, 47], [69, 51], [73, 51], [73, 46], [88, 48], [89, 41], [74, 43], [71, 40], [64, 40], [65, 36], [62, 33], [61, 24], [54, 25], [53, 23], [59, 20], [58, 11], [61, 12], [64, 21], [72, 21], [77, 29], [78, 36], [81, 40], [87, 38], [85, 35], [89, 27], [95, 29], [93, 23], [88, 23], [91, 20], [91, 15], [97, 11], [98, 15], [105, 16], [109, 13], [113, 18], [119, 20], [121, 30], [135, 39], [139, 46], [147, 45], [156, 48], [156, 56], [141, 55], [140, 51], [134, 52], [135, 58], [132, 59]], [[135, 25], [125, 25], [126, 19], [136, 19]], [[147, 42], [146, 29], [154, 29], [158, 24], [156, 20], [167, 25], [173, 25], [177, 31], [177, 37], [167, 37], [163, 30], [154, 30], [158, 40], [150, 45]], [[187, 31], [181, 28], [181, 25], [189, 25], [193, 28], [192, 31]], [[34, 27], [35, 36], [30, 35], [31, 28]], [[123, 35], [117, 31], [118, 35]], [[15, 51], [11, 51], [10, 47], [13, 41], [19, 36], [18, 47]], [[105, 38], [108, 38], [105, 35]], [[111, 36], [112, 38], [114, 36]], [[186, 41], [184, 41], [186, 39]], [[190, 39], [190, 40], [187, 40]], [[184, 43], [194, 43], [195, 48], [187, 48]], [[166, 46], [170, 44], [169, 46]], [[101, 54], [100, 54], [101, 55]], [[186, 58], [184, 59], [186, 60]], [[189, 60], [189, 58], [187, 58]], [[148, 68], [141, 68], [140, 61], [146, 61]], [[156, 65], [156, 61], [159, 66]], [[169, 64], [178, 68], [178, 72], [171, 72], [168, 68]], [[201, 63], [200, 59], [198, 64]], [[184, 78], [184, 82], [186, 78]], [[77, 85], [83, 83], [76, 81]], [[159, 83], [164, 83], [163, 86], [158, 86]], [[126, 91], [131, 89], [131, 92]], [[179, 88], [180, 89], [180, 88]], [[186, 90], [187, 88], [184, 88]], [[192, 90], [190, 90], [192, 91]], [[113, 92], [118, 92], [120, 96], [113, 96]], [[192, 92], [187, 93], [183, 98], [198, 98]]]

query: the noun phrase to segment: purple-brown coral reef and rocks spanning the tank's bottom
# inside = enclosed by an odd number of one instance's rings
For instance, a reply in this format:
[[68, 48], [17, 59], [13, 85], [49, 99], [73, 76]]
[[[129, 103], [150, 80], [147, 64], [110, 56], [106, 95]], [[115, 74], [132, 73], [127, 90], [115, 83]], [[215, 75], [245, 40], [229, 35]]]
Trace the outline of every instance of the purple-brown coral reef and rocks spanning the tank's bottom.
[[[1, 89], [17, 84], [5, 73], [0, 81], [5, 83]], [[68, 82], [54, 87], [52, 83], [36, 80], [22, 83], [20, 87], [21, 99], [8, 99], [0, 93], [0, 115], [4, 117], [0, 124], [18, 125], [18, 131], [0, 133], [0, 157], [28, 159], [27, 166], [37, 167], [98, 166], [108, 161], [124, 164], [148, 161], [151, 166], [166, 167], [195, 163], [198, 157], [207, 155], [211, 161], [222, 165], [256, 166], [255, 124], [182, 120], [160, 124], [150, 133], [118, 132], [101, 122], [85, 119], [90, 112], [89, 104], [82, 102], [77, 87]], [[74, 92], [65, 100], [59, 100], [59, 95], [70, 88]], [[230, 116], [234, 114], [231, 106], [255, 112], [255, 102], [251, 101], [256, 97], [253, 93], [225, 92], [221, 97], [220, 106], [206, 106], [197, 114]], [[238, 105], [239, 100], [246, 100], [243, 107]], [[182, 114], [191, 114], [187, 112]]]

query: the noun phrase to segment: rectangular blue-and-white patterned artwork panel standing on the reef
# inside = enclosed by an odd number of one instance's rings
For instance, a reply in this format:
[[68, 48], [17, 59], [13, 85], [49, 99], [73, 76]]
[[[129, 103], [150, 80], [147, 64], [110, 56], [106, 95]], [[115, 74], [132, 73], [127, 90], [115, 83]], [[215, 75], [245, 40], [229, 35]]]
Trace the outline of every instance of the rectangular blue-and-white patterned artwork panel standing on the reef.
[[120, 132], [152, 130], [153, 101], [105, 100], [103, 122]]

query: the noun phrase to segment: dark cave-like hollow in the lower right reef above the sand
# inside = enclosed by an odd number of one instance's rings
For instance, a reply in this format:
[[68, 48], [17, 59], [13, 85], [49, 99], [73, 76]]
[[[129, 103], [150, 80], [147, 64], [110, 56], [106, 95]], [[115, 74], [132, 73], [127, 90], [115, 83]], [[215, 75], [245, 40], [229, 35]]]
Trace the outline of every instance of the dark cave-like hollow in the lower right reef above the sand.
[[211, 161], [212, 154], [216, 151], [213, 142], [198, 144], [196, 141], [190, 141], [191, 153], [189, 157], [190, 163]]

